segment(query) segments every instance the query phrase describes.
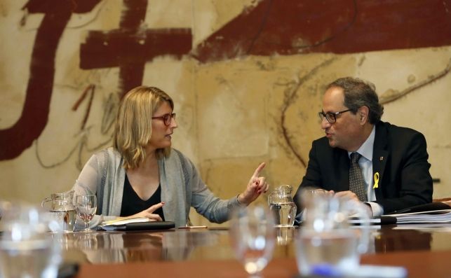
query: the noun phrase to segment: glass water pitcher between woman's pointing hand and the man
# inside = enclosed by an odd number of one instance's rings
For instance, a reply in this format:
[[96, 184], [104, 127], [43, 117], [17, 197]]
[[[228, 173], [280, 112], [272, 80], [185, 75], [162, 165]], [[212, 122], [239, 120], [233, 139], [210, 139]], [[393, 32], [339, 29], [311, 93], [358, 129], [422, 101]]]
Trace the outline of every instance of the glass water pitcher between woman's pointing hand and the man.
[[292, 198], [292, 186], [277, 186], [268, 196], [269, 209], [274, 213], [276, 226], [292, 227], [295, 223], [296, 205]]

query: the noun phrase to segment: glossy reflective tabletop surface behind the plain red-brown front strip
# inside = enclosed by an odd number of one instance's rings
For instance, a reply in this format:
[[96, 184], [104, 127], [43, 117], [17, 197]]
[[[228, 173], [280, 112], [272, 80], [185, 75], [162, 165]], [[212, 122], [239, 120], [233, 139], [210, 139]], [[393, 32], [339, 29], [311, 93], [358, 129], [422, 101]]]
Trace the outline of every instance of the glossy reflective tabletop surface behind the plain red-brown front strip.
[[[403, 227], [403, 226], [398, 226]], [[302, 228], [278, 228], [274, 258], [295, 258], [293, 241]], [[397, 228], [383, 226], [372, 229], [369, 253], [434, 250], [433, 238], [451, 239], [450, 230]], [[73, 232], [64, 234], [62, 248], [69, 258], [89, 263], [130, 263], [180, 260], [234, 259], [227, 228], [209, 228], [146, 232]], [[451, 240], [438, 244], [450, 249]], [[437, 245], [437, 244], [436, 244]], [[74, 253], [81, 256], [72, 256]]]

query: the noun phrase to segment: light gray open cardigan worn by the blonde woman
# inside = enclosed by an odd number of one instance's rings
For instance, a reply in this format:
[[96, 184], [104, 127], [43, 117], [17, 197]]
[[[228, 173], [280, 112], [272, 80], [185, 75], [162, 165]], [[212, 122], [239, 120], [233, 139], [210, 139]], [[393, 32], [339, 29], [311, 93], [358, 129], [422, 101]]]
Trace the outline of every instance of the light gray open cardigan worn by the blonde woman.
[[[114, 148], [95, 153], [81, 170], [73, 190], [74, 195], [95, 193], [97, 195], [97, 214], [91, 226], [121, 214], [123, 184], [126, 171], [123, 160]], [[159, 160], [161, 201], [166, 221], [174, 221], [175, 226], [189, 223], [189, 209], [222, 223], [229, 219], [234, 207], [239, 207], [236, 197], [221, 200], [215, 197], [203, 183], [193, 163], [180, 151], [172, 149], [168, 158]]]

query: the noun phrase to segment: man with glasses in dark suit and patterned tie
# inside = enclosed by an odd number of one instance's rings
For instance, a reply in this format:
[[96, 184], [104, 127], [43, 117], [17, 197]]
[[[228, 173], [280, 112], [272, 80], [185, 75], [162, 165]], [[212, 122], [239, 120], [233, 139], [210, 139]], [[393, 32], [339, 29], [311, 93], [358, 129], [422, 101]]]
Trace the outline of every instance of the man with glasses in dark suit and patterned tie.
[[[302, 189], [309, 187], [365, 202], [373, 216], [432, 201], [426, 139], [415, 130], [382, 122], [383, 112], [371, 83], [346, 77], [328, 85], [319, 113], [325, 137], [311, 146], [295, 196], [298, 214]], [[356, 172], [350, 170], [352, 153], [360, 168]], [[356, 175], [361, 175], [362, 190], [355, 189]]]

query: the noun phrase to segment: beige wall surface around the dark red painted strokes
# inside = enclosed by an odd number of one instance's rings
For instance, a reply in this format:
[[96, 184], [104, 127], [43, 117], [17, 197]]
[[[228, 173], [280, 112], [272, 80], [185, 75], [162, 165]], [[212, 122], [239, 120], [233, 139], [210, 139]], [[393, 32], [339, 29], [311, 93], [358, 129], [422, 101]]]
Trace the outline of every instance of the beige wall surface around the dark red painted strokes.
[[[34, 36], [42, 19], [29, 15], [20, 27], [20, 8], [26, 2], [0, 3], [0, 129], [13, 125], [22, 111]], [[255, 1], [152, 1], [145, 24], [189, 27], [195, 46], [251, 4]], [[88, 30], [116, 28], [120, 10], [121, 1], [102, 1], [91, 13], [72, 16], [58, 47], [48, 124], [18, 158], [0, 161], [0, 198], [38, 203], [51, 192], [67, 190], [89, 156], [107, 146], [112, 130], [102, 134], [102, 128], [105, 119], [114, 117], [105, 111], [116, 105], [107, 99], [116, 96], [119, 70], [80, 69], [78, 48]], [[187, 56], [157, 57], [145, 65], [142, 83], [162, 88], [175, 99], [179, 128], [173, 146], [226, 198], [243, 190], [260, 162], [267, 162], [264, 175], [271, 186], [297, 187], [305, 172], [301, 160], [307, 162], [311, 141], [322, 135], [317, 112], [328, 82], [339, 76], [365, 78], [384, 97], [390, 90], [402, 92], [440, 74], [450, 57], [450, 46], [347, 55], [252, 55], [206, 64]], [[93, 106], [86, 128], [80, 130], [87, 101], [77, 111], [72, 106], [90, 83], [97, 84]], [[445, 74], [387, 103], [382, 118], [426, 136], [431, 174], [441, 180], [434, 185], [434, 197], [451, 196], [449, 88], [451, 76]], [[192, 220], [206, 223], [196, 214]]]

